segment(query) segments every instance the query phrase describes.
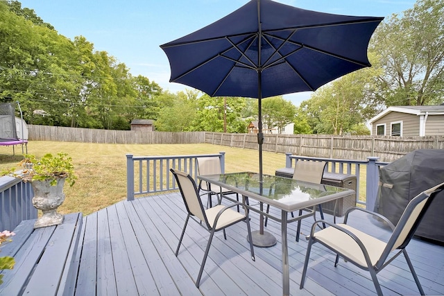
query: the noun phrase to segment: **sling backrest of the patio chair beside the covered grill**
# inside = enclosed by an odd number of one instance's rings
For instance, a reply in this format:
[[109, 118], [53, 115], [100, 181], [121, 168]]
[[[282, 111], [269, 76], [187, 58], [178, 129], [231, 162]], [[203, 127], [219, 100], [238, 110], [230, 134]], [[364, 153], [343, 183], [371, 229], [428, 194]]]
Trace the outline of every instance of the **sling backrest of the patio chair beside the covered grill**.
[[[429, 205], [434, 200], [436, 194], [443, 189], [444, 183], [438, 184], [431, 189], [422, 191], [420, 194], [416, 195], [409, 204], [407, 204], [398, 224], [395, 226], [395, 229], [393, 229], [391, 238], [387, 242], [386, 249], [382, 253], [382, 261], [385, 261], [388, 254], [393, 250], [403, 249], [409, 244], [413, 234], [415, 234], [416, 228], [418, 228], [418, 225], [422, 220], [422, 217], [427, 212]], [[382, 265], [382, 263], [384, 262], [378, 262], [380, 265]]]

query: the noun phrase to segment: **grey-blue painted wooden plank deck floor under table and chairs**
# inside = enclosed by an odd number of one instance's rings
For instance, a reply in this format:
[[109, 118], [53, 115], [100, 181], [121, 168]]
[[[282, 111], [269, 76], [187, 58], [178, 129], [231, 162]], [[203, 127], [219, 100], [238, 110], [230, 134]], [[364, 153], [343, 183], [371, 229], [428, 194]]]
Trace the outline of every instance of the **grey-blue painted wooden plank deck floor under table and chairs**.
[[[257, 214], [251, 215], [258, 229]], [[178, 257], [174, 256], [186, 213], [178, 193], [123, 201], [83, 218], [76, 295], [282, 295], [280, 225], [267, 230], [278, 244], [255, 247], [250, 259], [246, 227], [227, 230], [227, 241], [216, 234], [200, 288], [194, 285], [208, 233], [190, 221]], [[330, 217], [331, 218], [331, 217]], [[374, 224], [360, 218], [361, 225]], [[312, 220], [302, 222], [302, 234]], [[296, 224], [289, 226], [291, 295], [375, 295], [370, 275], [315, 245], [303, 290], [299, 289], [307, 241], [295, 239]], [[382, 229], [381, 235], [385, 232]], [[407, 251], [427, 295], [444, 295], [444, 247], [411, 241]], [[379, 273], [385, 295], [417, 295], [418, 290], [402, 256]]]

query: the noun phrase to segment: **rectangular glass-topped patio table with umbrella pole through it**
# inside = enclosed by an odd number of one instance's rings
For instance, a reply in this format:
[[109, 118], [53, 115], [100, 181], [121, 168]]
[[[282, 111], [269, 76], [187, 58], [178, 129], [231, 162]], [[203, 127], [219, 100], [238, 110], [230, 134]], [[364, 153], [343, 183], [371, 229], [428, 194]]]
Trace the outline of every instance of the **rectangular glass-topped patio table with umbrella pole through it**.
[[[281, 223], [283, 295], [289, 295], [290, 290], [287, 224], [314, 215], [314, 213], [309, 213], [289, 219], [287, 214], [292, 211], [314, 207], [323, 202], [338, 200], [355, 192], [352, 189], [301, 182], [275, 175], [263, 175], [262, 182], [259, 182], [259, 174], [253, 172], [198, 175], [198, 179], [241, 194], [243, 202], [247, 205], [248, 209], [260, 214], [259, 231], [253, 232], [252, 234], [254, 245], [262, 247], [263, 245], [261, 245], [260, 242], [257, 244], [255, 241], [261, 241], [264, 237], [268, 239], [270, 236], [273, 236], [272, 234], [264, 232], [264, 216]], [[224, 196], [224, 198], [231, 199], [227, 196]], [[259, 202], [259, 209], [254, 205], [249, 205], [247, 200], [256, 200]], [[280, 209], [281, 217], [267, 214], [263, 209], [263, 204], [270, 204]], [[275, 238], [274, 243], [271, 243], [271, 245], [274, 244]]]

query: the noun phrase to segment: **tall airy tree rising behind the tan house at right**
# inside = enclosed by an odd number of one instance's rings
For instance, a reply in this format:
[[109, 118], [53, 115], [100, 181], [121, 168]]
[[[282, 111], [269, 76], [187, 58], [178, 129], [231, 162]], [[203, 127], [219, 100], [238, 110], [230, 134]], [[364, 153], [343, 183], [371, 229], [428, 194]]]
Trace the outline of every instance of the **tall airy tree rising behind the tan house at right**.
[[386, 105], [442, 103], [444, 0], [418, 0], [402, 17], [380, 24], [374, 38]]

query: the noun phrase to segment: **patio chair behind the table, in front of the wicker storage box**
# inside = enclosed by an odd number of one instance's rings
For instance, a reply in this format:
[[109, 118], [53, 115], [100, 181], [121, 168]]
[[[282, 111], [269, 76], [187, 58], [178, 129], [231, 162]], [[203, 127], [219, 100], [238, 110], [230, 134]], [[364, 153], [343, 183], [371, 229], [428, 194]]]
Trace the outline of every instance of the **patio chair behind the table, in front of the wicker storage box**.
[[[305, 160], [298, 160], [298, 162], [296, 162], [294, 166], [293, 179], [302, 182], [321, 184], [322, 176], [326, 165], [327, 162], [307, 162]], [[319, 207], [319, 212], [321, 214], [321, 219], [323, 219], [324, 214], [322, 211], [321, 204], [318, 207]], [[270, 209], [270, 204], [267, 204], [266, 206], [267, 214], [269, 209]], [[313, 215], [316, 215], [316, 209], [305, 209], [305, 211], [313, 211]], [[293, 217], [293, 212], [291, 213], [291, 216]], [[302, 209], [299, 210], [299, 216], [302, 216]], [[316, 216], [314, 217], [316, 219]], [[268, 217], [265, 218], [265, 226], [267, 222], [268, 222]], [[300, 234], [300, 220], [298, 220], [298, 228], [296, 230], [296, 241], [299, 241], [299, 234]]]

